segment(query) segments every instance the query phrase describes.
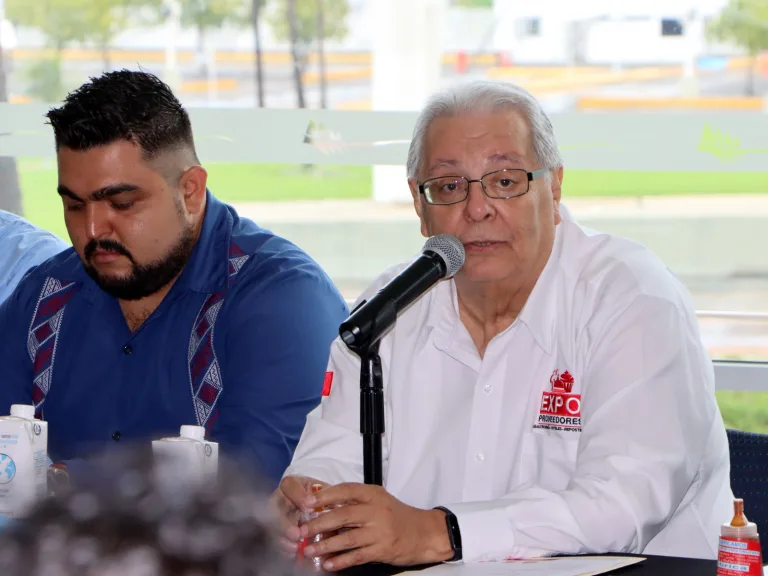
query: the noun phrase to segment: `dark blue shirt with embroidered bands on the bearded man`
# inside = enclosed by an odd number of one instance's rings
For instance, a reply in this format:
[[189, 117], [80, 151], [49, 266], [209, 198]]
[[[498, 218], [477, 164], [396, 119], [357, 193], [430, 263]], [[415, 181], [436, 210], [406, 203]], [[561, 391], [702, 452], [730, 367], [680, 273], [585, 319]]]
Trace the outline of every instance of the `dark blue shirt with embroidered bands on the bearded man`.
[[53, 461], [206, 426], [277, 481], [347, 313], [305, 252], [209, 193], [189, 262], [135, 333], [74, 249], [21, 282], [0, 305], [0, 413], [34, 402]]

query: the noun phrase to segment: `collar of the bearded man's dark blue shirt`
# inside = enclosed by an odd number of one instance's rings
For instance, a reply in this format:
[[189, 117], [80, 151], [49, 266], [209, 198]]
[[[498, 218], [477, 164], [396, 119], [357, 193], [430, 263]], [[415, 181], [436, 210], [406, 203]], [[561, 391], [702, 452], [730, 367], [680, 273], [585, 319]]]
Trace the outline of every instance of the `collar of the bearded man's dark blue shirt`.
[[[229, 279], [229, 245], [234, 218], [229, 207], [206, 191], [205, 217], [200, 236], [192, 249], [189, 261], [171, 288], [172, 292], [191, 290], [211, 294], [227, 287]], [[78, 258], [79, 260], [79, 258]], [[91, 302], [105, 294], [78, 262], [76, 280], [83, 283], [83, 295]]]

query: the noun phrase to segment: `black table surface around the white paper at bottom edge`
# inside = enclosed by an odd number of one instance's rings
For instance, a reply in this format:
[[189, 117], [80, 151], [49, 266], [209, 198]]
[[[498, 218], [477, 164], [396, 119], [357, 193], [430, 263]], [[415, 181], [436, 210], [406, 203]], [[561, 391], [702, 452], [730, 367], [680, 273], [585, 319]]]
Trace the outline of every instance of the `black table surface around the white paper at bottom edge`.
[[[632, 554], [609, 554], [609, 556], [632, 556]], [[646, 556], [645, 562], [621, 568], [610, 572], [619, 576], [715, 576], [717, 562], [715, 560], [697, 560], [694, 558], [673, 558], [670, 556]], [[425, 567], [421, 567], [425, 568]], [[385, 564], [368, 564], [343, 571], [343, 576], [393, 576], [406, 570], [418, 568], [403, 568]]]

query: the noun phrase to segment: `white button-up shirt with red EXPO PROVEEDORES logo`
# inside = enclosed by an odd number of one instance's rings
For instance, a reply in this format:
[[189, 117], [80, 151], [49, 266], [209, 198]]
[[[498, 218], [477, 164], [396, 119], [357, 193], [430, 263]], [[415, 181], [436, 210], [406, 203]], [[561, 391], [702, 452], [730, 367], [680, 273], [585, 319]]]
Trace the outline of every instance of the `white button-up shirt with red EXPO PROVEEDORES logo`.
[[[712, 364], [686, 289], [642, 246], [564, 220], [525, 307], [484, 357], [453, 281], [406, 310], [380, 354], [384, 486], [451, 509], [465, 561], [717, 557], [733, 496]], [[330, 393], [286, 475], [363, 481], [359, 369], [337, 339]]]

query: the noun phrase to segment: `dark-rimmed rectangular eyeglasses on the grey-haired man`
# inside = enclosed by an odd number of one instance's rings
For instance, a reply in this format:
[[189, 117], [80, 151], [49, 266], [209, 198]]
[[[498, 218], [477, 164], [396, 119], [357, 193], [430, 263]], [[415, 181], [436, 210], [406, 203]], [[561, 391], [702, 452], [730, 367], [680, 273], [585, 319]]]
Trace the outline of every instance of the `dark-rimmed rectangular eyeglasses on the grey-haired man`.
[[488, 198], [508, 200], [527, 194], [529, 182], [541, 178], [547, 172], [549, 168], [542, 168], [535, 172], [508, 168], [489, 172], [479, 180], [470, 180], [464, 176], [441, 176], [430, 178], [419, 184], [419, 192], [424, 194], [427, 204], [446, 206], [464, 202], [469, 196], [469, 185], [472, 182], [480, 182]]

